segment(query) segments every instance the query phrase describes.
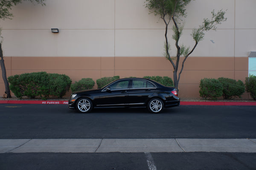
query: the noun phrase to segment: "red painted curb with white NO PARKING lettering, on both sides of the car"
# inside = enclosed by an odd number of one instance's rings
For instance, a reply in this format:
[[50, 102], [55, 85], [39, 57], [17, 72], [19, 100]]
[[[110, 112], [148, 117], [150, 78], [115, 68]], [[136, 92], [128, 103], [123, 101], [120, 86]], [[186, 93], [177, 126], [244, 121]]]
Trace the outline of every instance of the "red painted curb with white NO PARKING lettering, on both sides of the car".
[[[0, 100], [0, 104], [43, 104], [67, 105], [68, 101], [48, 100]], [[256, 106], [256, 102], [180, 102], [180, 105], [214, 105], [214, 106]]]

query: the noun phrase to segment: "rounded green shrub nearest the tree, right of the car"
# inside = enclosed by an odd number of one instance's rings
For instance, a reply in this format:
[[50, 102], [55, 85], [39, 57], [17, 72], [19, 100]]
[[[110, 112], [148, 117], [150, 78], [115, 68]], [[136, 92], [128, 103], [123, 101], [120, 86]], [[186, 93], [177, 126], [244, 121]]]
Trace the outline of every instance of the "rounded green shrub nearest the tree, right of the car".
[[201, 79], [199, 88], [200, 96], [204, 99], [216, 100], [223, 94], [223, 86], [217, 79]]

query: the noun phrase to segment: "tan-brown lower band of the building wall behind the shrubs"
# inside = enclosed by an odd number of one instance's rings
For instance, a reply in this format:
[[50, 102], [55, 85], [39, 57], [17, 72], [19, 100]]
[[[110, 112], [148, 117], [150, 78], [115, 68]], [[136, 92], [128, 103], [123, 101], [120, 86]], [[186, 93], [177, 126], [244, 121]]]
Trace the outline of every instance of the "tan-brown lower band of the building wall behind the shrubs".
[[[182, 59], [181, 61], [182, 62]], [[172, 65], [165, 57], [5, 57], [7, 77], [47, 71], [68, 75], [73, 82], [119, 75], [124, 77], [172, 77]], [[180, 63], [181, 65], [181, 63]], [[248, 75], [247, 57], [190, 57], [180, 78], [180, 97], [199, 97], [202, 78], [227, 77], [244, 81]], [[5, 91], [0, 79], [0, 96]], [[245, 95], [245, 98], [248, 95]]]

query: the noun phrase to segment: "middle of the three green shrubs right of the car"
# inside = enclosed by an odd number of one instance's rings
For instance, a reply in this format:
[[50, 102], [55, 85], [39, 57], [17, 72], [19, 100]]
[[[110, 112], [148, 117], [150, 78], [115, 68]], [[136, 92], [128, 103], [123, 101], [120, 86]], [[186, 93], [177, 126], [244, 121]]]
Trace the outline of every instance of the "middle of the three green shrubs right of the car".
[[241, 98], [241, 95], [245, 92], [244, 83], [241, 80], [234, 80], [229, 78], [220, 77], [218, 80], [223, 86], [223, 98], [232, 99], [233, 96], [238, 96]]

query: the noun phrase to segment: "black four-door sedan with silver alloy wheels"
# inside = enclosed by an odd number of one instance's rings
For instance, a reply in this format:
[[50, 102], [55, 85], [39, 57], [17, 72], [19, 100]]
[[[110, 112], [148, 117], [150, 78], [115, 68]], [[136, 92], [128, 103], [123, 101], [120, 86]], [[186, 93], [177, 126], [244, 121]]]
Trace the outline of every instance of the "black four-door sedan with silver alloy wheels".
[[101, 89], [71, 94], [69, 108], [88, 113], [93, 108], [145, 107], [151, 113], [180, 105], [175, 88], [166, 87], [151, 79], [125, 78], [111, 82]]

